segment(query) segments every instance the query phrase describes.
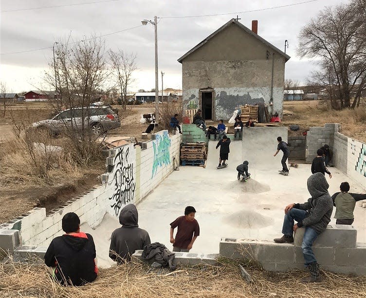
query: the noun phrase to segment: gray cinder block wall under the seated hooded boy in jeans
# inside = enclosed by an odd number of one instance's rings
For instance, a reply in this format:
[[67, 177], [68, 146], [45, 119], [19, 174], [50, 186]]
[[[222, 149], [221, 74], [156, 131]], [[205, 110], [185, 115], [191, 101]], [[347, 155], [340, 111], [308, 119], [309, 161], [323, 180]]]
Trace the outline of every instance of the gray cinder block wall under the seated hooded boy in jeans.
[[[294, 244], [221, 238], [220, 255], [258, 261], [268, 271], [304, 269], [301, 249], [304, 228], [297, 230]], [[320, 268], [331, 272], [366, 275], [366, 245], [356, 245], [357, 231], [351, 226], [331, 225], [313, 244]]]

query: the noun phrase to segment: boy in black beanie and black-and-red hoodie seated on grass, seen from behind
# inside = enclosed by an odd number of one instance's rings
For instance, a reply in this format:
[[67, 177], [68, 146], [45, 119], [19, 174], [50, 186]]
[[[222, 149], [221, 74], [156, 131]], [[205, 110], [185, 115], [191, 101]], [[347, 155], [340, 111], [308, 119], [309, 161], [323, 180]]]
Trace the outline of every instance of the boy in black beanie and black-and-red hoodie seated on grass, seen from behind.
[[73, 212], [62, 218], [62, 230], [66, 234], [54, 238], [44, 255], [50, 273], [62, 285], [81, 286], [94, 281], [98, 268], [93, 238], [80, 232], [80, 219]]

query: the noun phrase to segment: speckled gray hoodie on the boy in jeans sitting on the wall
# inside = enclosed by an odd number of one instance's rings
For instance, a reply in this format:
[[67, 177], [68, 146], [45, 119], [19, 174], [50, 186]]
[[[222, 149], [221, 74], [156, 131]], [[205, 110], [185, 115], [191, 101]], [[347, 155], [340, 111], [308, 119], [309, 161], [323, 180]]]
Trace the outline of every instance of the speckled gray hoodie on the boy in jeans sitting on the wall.
[[309, 226], [322, 233], [330, 221], [333, 211], [333, 200], [328, 192], [329, 184], [322, 173], [315, 173], [308, 179], [308, 190], [311, 198], [304, 204], [295, 204], [293, 208], [306, 210], [308, 216], [297, 223], [298, 227]]

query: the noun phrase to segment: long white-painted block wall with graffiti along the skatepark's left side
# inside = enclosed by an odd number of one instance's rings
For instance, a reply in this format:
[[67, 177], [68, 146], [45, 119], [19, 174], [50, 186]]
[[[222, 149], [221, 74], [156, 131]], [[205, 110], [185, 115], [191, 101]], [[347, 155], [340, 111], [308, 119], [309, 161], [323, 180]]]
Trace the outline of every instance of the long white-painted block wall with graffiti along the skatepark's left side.
[[61, 220], [68, 212], [75, 212], [81, 223], [88, 223], [91, 228], [99, 225], [107, 212], [118, 217], [125, 205], [146, 197], [179, 164], [181, 141], [180, 134], [169, 136], [164, 130], [141, 146], [128, 144], [110, 150], [106, 159], [110, 172], [101, 176], [103, 185], [69, 200], [48, 216], [45, 208], [34, 208], [1, 224], [0, 248], [12, 251], [20, 244], [27, 246], [23, 250], [33, 252], [37, 246], [48, 246], [53, 238], [63, 234]]

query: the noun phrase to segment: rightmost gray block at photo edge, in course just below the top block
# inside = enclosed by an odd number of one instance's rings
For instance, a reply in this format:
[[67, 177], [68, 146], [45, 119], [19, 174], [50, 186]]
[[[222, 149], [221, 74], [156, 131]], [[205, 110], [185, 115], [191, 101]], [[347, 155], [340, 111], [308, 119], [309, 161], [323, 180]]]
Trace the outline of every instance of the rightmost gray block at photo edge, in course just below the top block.
[[366, 248], [335, 248], [334, 265], [366, 267]]

